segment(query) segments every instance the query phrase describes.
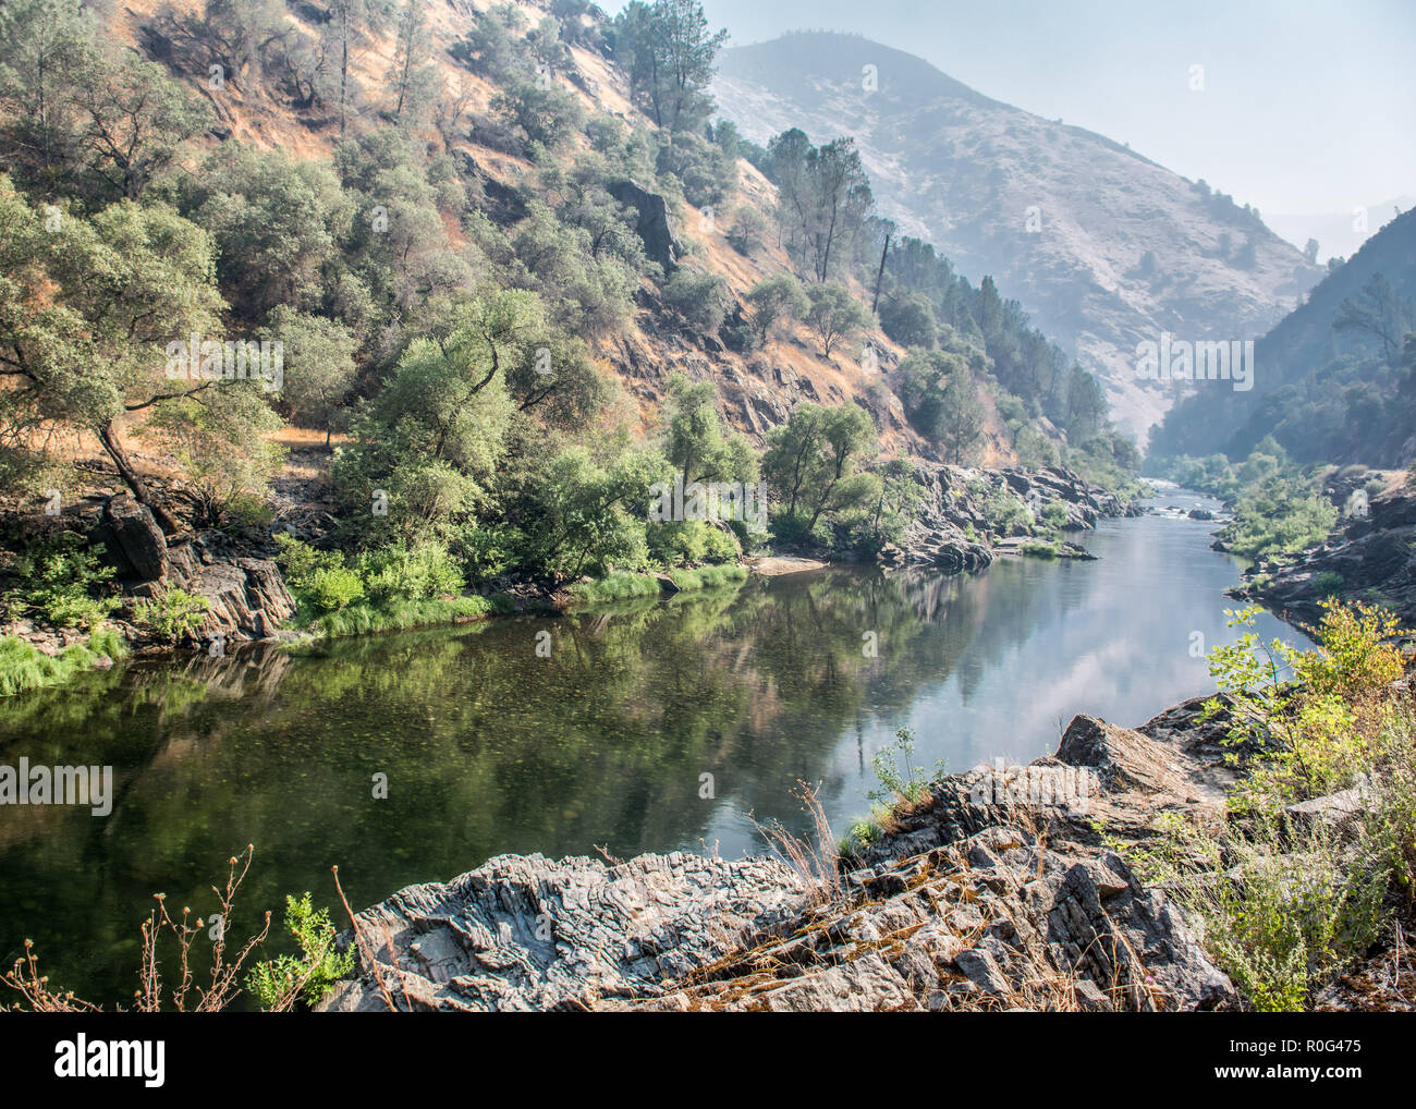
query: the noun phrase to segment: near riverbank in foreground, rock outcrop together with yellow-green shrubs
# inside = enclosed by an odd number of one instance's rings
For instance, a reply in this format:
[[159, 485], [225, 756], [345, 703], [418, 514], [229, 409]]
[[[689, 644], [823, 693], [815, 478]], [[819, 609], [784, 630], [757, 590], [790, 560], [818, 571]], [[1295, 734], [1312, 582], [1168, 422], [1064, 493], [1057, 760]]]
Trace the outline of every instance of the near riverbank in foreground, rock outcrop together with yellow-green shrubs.
[[1078, 715], [1022, 768], [877, 762], [896, 803], [865, 840], [837, 844], [801, 786], [814, 831], [759, 829], [777, 858], [498, 855], [408, 887], [354, 916], [357, 969], [321, 1007], [1416, 1008], [1392, 627], [1328, 610], [1318, 650], [1280, 649], [1284, 687], [1219, 647], [1219, 694], [1138, 728]]

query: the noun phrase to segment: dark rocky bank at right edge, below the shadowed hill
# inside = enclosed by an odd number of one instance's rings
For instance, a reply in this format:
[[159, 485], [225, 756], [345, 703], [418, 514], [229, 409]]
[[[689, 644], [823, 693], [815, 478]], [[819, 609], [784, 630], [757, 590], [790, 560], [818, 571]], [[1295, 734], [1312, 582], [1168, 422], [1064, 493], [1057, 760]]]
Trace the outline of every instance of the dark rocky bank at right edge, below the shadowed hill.
[[1266, 562], [1245, 576], [1250, 581], [1233, 596], [1306, 623], [1320, 620], [1321, 602], [1335, 596], [1381, 601], [1403, 626], [1416, 625], [1416, 490], [1408, 486], [1374, 499], [1365, 518], [1351, 521], [1291, 565]]

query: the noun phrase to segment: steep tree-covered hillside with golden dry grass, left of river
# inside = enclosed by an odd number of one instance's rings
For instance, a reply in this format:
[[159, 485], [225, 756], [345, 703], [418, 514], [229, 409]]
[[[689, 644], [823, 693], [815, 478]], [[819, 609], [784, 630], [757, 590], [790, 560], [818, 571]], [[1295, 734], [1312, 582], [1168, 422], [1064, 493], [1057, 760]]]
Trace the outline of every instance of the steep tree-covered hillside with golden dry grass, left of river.
[[[896, 238], [848, 137], [742, 157], [722, 41], [688, 0], [6, 4], [11, 503], [113, 474], [169, 535], [275, 525], [331, 613], [868, 557], [909, 456], [1124, 477], [1095, 380]], [[651, 520], [675, 476], [770, 527]]]

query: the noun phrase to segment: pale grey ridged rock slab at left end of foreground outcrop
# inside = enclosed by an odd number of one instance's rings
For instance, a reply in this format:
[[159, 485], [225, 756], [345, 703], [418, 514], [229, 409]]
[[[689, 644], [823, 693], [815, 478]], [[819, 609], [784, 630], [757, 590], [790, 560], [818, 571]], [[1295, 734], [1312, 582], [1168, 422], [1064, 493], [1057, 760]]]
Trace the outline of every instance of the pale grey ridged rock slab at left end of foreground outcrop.
[[666, 980], [780, 929], [804, 901], [801, 880], [773, 860], [501, 855], [358, 914], [361, 976], [321, 1008], [387, 1008], [375, 974], [399, 1008], [558, 1010], [656, 997]]

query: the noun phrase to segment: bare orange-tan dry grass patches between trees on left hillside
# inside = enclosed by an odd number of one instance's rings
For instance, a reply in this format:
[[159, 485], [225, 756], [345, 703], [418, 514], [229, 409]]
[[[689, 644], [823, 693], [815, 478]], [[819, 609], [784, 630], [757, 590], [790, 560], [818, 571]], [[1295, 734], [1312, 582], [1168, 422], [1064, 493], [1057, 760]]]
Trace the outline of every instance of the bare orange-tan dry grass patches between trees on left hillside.
[[[493, 0], [449, 0], [429, 4], [436, 62], [443, 81], [447, 88], [466, 89], [472, 96], [473, 110], [477, 112], [489, 109], [497, 92], [496, 86], [459, 67], [446, 51], [469, 25], [469, 11], [486, 10], [491, 3]], [[149, 41], [144, 28], [157, 23], [163, 7], [161, 0], [130, 0], [115, 16], [118, 38], [132, 48], [142, 50], [142, 44]], [[200, 11], [201, 4], [200, 0], [176, 0], [171, 7], [194, 13]], [[545, 14], [545, 8], [535, 3], [520, 3], [518, 7], [531, 24]], [[290, 13], [286, 18], [293, 25], [303, 27]], [[310, 28], [303, 27], [303, 30]], [[562, 85], [582, 101], [586, 110], [607, 113], [627, 122], [649, 122], [630, 105], [624, 78], [615, 67], [600, 55], [581, 48], [572, 48], [572, 54], [589, 92], [575, 88], [564, 78]], [[357, 54], [354, 71], [364, 89], [377, 92], [382, 88], [392, 57], [391, 33], [371, 41]], [[207, 88], [204, 75], [202, 78], [193, 74], [176, 75], [188, 81], [212, 105], [221, 126], [229, 127], [231, 137], [241, 142], [263, 149], [280, 149], [295, 157], [317, 159], [329, 156], [338, 139], [337, 126], [330, 125], [327, 119], [296, 110], [273, 89], [262, 88], [255, 81], [242, 81], [241, 78], [246, 75], [236, 75], [219, 92]], [[432, 130], [426, 137], [430, 143], [440, 142]], [[214, 135], [205, 139], [207, 146], [215, 146], [218, 142], [221, 140]], [[583, 140], [581, 142], [583, 144]], [[514, 183], [530, 169], [524, 161], [470, 139], [459, 143], [459, 149], [503, 184]], [[190, 157], [193, 167], [200, 156], [198, 147]], [[688, 265], [722, 276], [738, 300], [763, 276], [787, 268], [786, 255], [779, 249], [759, 249], [752, 258], [743, 258], [724, 238], [724, 231], [731, 227], [731, 211], [735, 205], [748, 204], [765, 211], [775, 193], [773, 186], [746, 160], [739, 163], [739, 169], [738, 195], [731, 204], [721, 205], [716, 220], [705, 220], [704, 212], [685, 204], [675, 227], [680, 237], [690, 244]], [[460, 239], [452, 221], [449, 221], [449, 235], [455, 242]], [[649, 286], [646, 289], [654, 292]], [[868, 296], [865, 290], [858, 292], [862, 297]], [[639, 309], [633, 324], [624, 333], [600, 343], [598, 354], [603, 358], [603, 367], [615, 372], [634, 398], [640, 429], [644, 432], [650, 432], [657, 422], [658, 401], [668, 374], [681, 370], [697, 380], [716, 381], [725, 418], [756, 439], [784, 419], [790, 408], [801, 399], [816, 399], [823, 404], [858, 399], [878, 412], [882, 446], [886, 452], [926, 453], [926, 445], [906, 428], [903, 411], [892, 394], [877, 391], [877, 395], [885, 399], [884, 408], [868, 398], [871, 374], [860, 363], [867, 341], [874, 343], [881, 351], [881, 363], [886, 367], [903, 357], [898, 346], [878, 330], [872, 330], [852, 344], [843, 344], [833, 353], [833, 358], [827, 360], [820, 356], [814, 337], [804, 327], [797, 329], [789, 340], [773, 343], [766, 350], [748, 356], [705, 350], [687, 333], [674, 333], [666, 326], [661, 314]], [[997, 421], [993, 404], [981, 389], [980, 399], [988, 412], [986, 463], [1012, 462], [1007, 431]]]

